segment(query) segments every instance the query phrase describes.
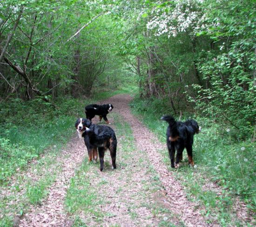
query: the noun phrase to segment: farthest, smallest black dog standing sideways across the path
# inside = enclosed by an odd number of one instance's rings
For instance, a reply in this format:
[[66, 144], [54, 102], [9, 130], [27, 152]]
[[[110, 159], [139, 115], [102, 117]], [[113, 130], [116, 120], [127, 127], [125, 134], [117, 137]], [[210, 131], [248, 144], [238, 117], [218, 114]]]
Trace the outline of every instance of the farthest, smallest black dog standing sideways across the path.
[[103, 118], [107, 124], [110, 124], [107, 118], [107, 114], [113, 110], [112, 104], [98, 105], [98, 104], [90, 104], [85, 107], [85, 114], [88, 120], [92, 120], [95, 115], [100, 116], [100, 121]]

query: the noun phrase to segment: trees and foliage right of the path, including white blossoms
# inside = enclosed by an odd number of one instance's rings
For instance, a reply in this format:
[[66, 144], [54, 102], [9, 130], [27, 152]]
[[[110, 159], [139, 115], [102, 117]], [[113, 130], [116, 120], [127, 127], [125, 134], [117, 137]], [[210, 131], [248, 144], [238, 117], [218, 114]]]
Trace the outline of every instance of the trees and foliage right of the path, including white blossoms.
[[173, 114], [196, 106], [254, 138], [255, 3], [144, 1], [137, 12], [124, 47], [136, 54], [141, 96], [167, 98]]

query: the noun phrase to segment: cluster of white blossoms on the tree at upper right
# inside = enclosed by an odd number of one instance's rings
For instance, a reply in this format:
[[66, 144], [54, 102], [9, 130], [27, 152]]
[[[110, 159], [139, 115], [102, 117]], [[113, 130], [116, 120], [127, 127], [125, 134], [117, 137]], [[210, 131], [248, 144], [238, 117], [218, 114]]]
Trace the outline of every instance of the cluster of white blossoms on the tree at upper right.
[[165, 8], [154, 9], [154, 17], [148, 22], [148, 29], [156, 29], [155, 35], [164, 33], [176, 36], [179, 32], [195, 35], [205, 28], [205, 13], [202, 12], [203, 0], [175, 0], [175, 7], [167, 12]]

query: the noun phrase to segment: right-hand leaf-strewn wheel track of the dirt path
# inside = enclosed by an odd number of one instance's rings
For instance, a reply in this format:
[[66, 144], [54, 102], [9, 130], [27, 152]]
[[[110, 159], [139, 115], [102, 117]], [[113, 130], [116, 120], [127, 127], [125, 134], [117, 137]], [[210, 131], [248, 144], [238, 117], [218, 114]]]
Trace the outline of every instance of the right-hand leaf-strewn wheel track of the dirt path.
[[[131, 100], [132, 98], [128, 95], [116, 95], [108, 99], [107, 102], [113, 104], [115, 111], [129, 122], [135, 137], [137, 149], [148, 155], [155, 171], [160, 176], [164, 193], [167, 194], [166, 202], [169, 203], [170, 209], [174, 214], [180, 216], [186, 226], [209, 226], [200, 215], [199, 210], [194, 209], [195, 204], [187, 199], [181, 184], [174, 179], [172, 173], [168, 171], [162, 162], [162, 157], [157, 150], [166, 148], [166, 145], [160, 143], [155, 135], [130, 113], [128, 103]], [[212, 225], [217, 226], [217, 224]]]

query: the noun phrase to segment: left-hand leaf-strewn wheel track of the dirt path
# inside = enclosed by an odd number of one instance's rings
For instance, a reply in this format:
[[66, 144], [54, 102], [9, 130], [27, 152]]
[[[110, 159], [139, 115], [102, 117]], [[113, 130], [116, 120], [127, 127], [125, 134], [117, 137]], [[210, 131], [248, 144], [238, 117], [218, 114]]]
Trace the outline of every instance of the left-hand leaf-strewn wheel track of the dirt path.
[[80, 139], [73, 138], [57, 158], [57, 162], [61, 163], [62, 171], [56, 176], [54, 185], [48, 189], [47, 199], [41, 206], [31, 207], [33, 209], [31, 213], [25, 214], [20, 220], [20, 227], [62, 226], [65, 223], [66, 213], [63, 202], [67, 187], [84, 155], [84, 146]]

